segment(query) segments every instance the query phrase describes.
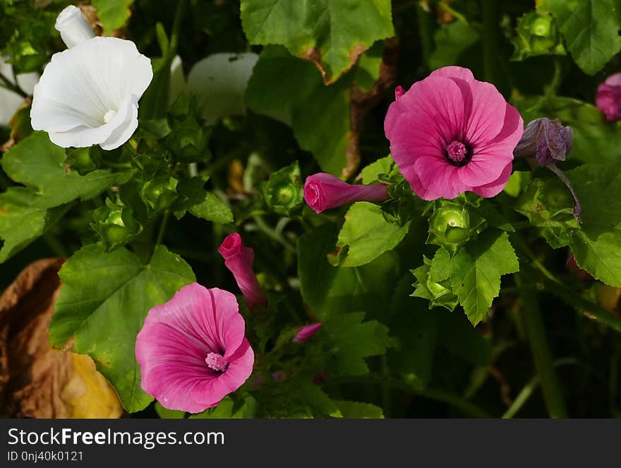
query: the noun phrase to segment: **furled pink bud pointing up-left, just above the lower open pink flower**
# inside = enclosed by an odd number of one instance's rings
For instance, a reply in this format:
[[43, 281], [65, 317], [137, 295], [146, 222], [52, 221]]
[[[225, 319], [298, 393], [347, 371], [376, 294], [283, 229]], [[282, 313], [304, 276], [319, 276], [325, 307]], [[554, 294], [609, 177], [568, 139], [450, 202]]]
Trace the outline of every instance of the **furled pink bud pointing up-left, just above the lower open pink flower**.
[[244, 246], [241, 242], [241, 236], [234, 232], [224, 238], [218, 252], [224, 258], [224, 265], [227, 265], [227, 268], [233, 273], [250, 310], [253, 311], [256, 306], [265, 306], [267, 299], [263, 295], [252, 268], [255, 261], [255, 251]]

